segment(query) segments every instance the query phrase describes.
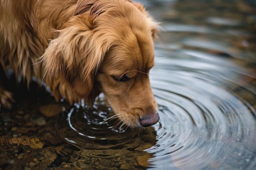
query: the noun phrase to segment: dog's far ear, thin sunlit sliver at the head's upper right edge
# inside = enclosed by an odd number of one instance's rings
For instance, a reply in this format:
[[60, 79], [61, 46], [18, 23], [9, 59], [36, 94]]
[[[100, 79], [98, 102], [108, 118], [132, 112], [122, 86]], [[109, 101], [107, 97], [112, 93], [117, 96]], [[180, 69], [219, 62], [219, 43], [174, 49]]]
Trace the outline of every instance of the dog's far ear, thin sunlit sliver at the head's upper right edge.
[[150, 17], [148, 11], [146, 11], [146, 8], [143, 6], [143, 4], [139, 3], [139, 2], [133, 2], [131, 0], [128, 0], [128, 2], [131, 2], [135, 7], [137, 7], [137, 9], [139, 9], [139, 11], [141, 11], [141, 13], [143, 13], [152, 23], [152, 37], [153, 39], [157, 38], [157, 34], [159, 33], [159, 30], [157, 28], [159, 28], [159, 25], [153, 20], [152, 17]]

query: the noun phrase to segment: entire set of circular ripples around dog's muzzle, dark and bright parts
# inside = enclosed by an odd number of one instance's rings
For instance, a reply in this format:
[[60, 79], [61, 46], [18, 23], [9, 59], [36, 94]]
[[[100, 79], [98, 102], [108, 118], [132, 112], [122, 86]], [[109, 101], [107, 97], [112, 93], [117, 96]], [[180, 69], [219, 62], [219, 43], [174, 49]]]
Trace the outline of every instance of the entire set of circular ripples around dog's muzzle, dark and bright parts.
[[234, 72], [234, 64], [212, 63], [216, 68], [209, 70], [195, 69], [193, 62], [181, 67], [175, 57], [157, 63], [150, 75], [160, 115], [156, 125], [121, 126], [120, 120], [108, 119], [115, 114], [101, 96], [93, 108], [77, 105], [58, 117], [62, 139], [79, 148], [83, 159], [108, 159], [118, 167], [253, 169], [255, 101], [245, 96], [255, 94], [235, 81], [248, 75]]

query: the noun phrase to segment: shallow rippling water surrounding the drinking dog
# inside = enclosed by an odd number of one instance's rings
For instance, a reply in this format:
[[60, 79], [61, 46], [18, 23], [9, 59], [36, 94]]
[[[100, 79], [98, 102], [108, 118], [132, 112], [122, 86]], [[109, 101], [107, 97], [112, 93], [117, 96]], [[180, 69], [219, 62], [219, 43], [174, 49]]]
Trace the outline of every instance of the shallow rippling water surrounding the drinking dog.
[[[38, 137], [43, 143], [21, 147], [18, 154], [31, 150], [45, 157], [38, 158], [39, 163], [23, 162], [22, 167], [255, 170], [256, 3], [140, 2], [165, 30], [155, 44], [156, 64], [150, 72], [160, 121], [139, 130], [122, 126], [117, 119], [104, 122], [114, 113], [103, 95], [93, 108], [83, 103], [69, 106], [54, 102], [43, 90], [34, 94], [37, 86], [32, 85], [33, 94], [20, 101], [21, 107], [0, 114], [1, 135], [7, 141]], [[61, 114], [52, 119], [38, 112]], [[2, 167], [20, 163], [11, 154], [6, 153], [16, 162], [8, 159]]]

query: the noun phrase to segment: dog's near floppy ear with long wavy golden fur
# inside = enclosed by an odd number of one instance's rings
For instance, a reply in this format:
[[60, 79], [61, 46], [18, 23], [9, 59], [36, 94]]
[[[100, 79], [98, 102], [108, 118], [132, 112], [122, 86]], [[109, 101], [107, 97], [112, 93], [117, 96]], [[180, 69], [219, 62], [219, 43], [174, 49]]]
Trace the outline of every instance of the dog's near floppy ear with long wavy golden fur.
[[94, 77], [111, 46], [110, 38], [95, 32], [91, 23], [83, 15], [74, 16], [42, 56], [45, 74], [62, 79], [85, 99], [94, 96]]

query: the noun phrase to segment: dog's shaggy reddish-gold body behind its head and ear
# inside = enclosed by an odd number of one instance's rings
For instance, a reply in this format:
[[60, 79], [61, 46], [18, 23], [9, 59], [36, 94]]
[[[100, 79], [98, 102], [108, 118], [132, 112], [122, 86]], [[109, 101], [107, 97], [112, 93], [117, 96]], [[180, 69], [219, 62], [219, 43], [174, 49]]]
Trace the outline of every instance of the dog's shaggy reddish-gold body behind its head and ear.
[[[77, 0], [66, 1], [69, 2], [66, 3], [68, 7], [76, 4]], [[74, 102], [77, 97], [70, 86], [63, 84], [59, 79], [44, 77], [42, 65], [38, 60], [47, 48], [49, 39], [56, 36], [53, 29], [58, 29], [56, 26], [60, 26], [59, 20], [63, 21], [60, 23], [65, 23], [63, 19], [67, 20], [72, 15], [71, 11], [59, 7], [63, 6], [63, 3], [52, 0], [0, 1], [0, 65], [4, 71], [12, 69], [17, 79], [26, 78], [28, 83], [33, 76], [39, 81], [44, 78], [56, 100], [64, 96], [69, 102]], [[65, 13], [70, 13], [70, 16]], [[57, 20], [57, 15], [65, 17]], [[0, 103], [7, 105], [11, 96], [4, 90], [1, 82], [0, 93]]]

